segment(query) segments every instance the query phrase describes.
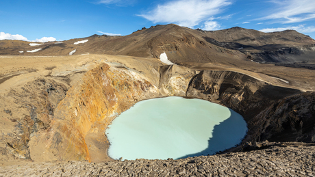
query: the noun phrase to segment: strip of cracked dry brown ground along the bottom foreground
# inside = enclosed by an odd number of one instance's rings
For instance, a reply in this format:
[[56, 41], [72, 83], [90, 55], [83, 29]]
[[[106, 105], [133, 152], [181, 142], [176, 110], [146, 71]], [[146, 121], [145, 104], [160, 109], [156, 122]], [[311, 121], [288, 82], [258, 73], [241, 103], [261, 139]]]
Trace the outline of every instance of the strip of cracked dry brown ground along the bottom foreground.
[[0, 167], [0, 176], [315, 176], [315, 144], [270, 144], [250, 152], [179, 160], [28, 163]]

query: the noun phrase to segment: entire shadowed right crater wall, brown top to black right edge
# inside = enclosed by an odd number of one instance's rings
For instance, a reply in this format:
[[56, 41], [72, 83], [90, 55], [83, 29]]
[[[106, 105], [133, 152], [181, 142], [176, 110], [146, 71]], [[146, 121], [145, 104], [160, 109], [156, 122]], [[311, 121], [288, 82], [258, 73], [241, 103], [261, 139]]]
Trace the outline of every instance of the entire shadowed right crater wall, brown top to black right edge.
[[264, 140], [314, 142], [314, 92], [269, 85], [238, 72], [201, 71], [190, 81], [186, 96], [240, 113], [249, 128], [241, 146]]

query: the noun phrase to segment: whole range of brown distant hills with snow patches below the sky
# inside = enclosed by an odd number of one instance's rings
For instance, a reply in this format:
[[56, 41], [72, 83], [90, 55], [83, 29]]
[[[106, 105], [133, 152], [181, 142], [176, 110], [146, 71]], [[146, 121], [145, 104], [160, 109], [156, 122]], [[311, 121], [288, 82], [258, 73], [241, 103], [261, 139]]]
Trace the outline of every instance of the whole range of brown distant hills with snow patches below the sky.
[[159, 58], [165, 51], [168, 59], [177, 64], [229, 63], [235, 59], [288, 66], [295, 63], [301, 67], [315, 63], [315, 40], [294, 30], [263, 33], [233, 27], [203, 31], [171, 24], [142, 28], [127, 36], [95, 34], [62, 42], [36, 42], [40, 45], [35, 46], [31, 43], [34, 42], [1, 40], [0, 55], [95, 53]]

